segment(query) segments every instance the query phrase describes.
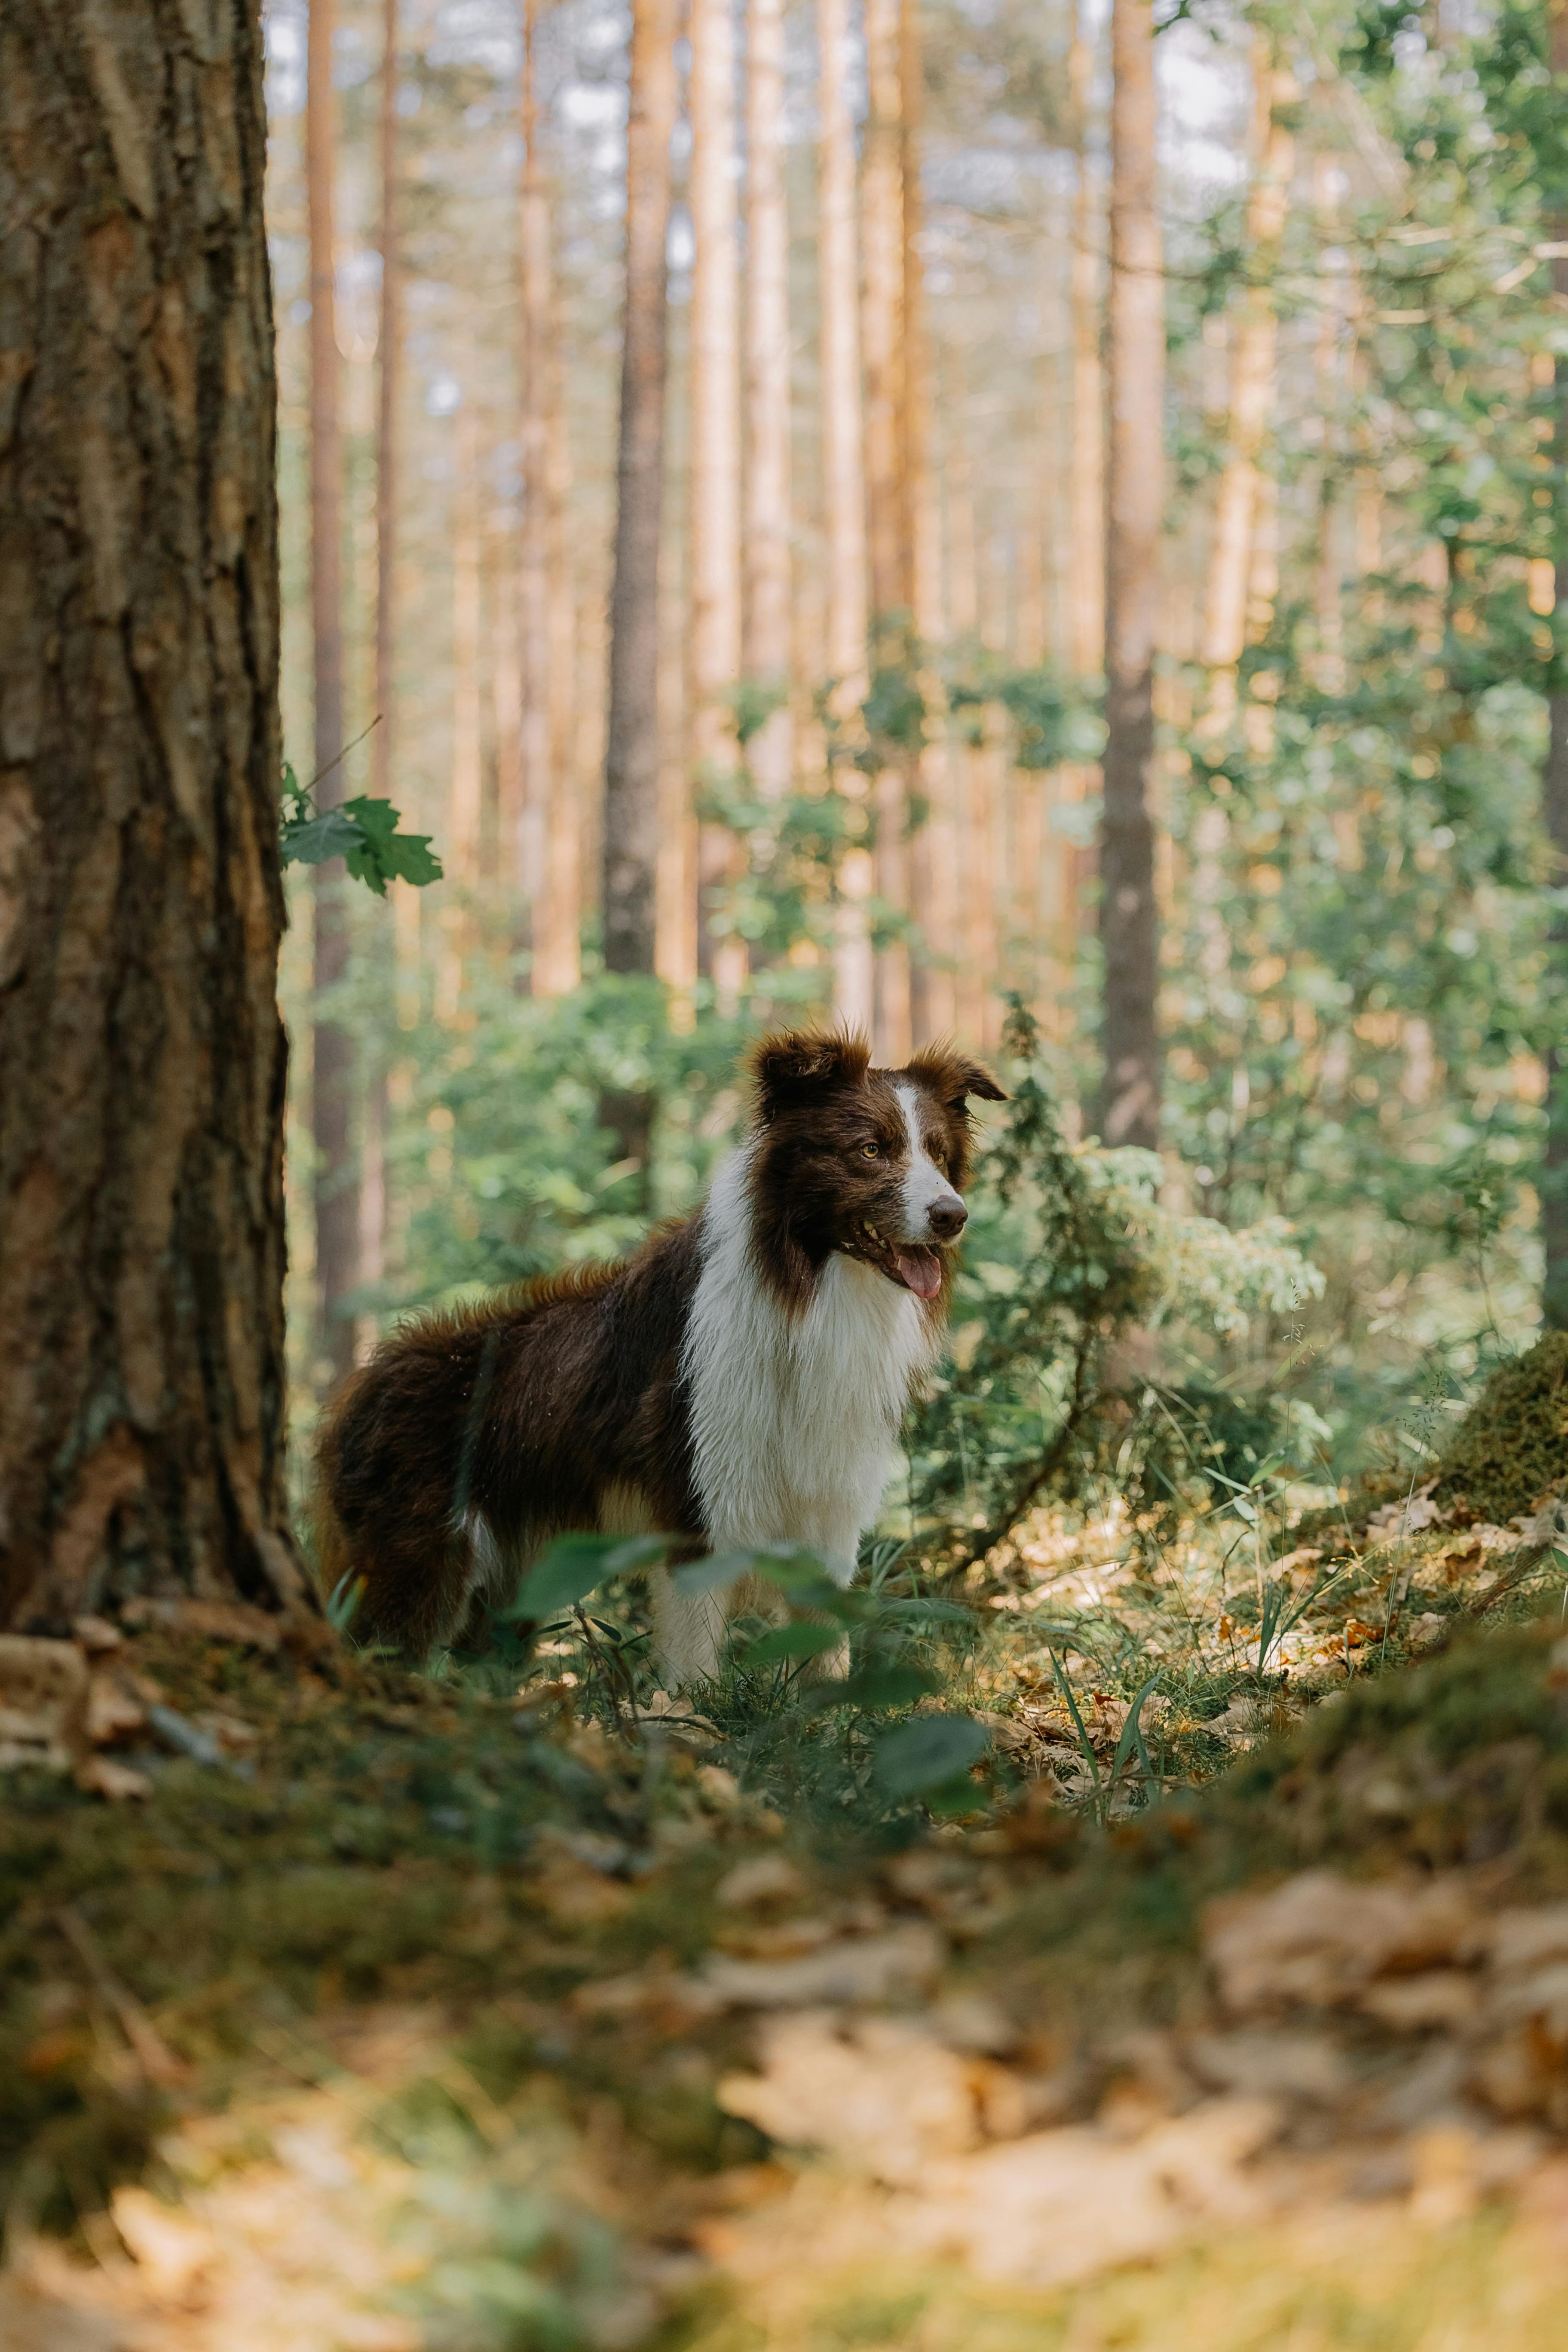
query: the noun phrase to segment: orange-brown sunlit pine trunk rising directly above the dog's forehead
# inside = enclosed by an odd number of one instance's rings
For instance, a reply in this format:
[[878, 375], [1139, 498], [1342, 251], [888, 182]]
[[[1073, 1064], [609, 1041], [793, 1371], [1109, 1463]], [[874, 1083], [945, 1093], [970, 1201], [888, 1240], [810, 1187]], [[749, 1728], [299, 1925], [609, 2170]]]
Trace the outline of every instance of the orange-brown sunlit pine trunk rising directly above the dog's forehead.
[[[907, 381], [905, 381], [905, 71], [900, 0], [865, 5], [867, 115], [860, 169], [865, 510], [870, 546], [872, 668], [907, 659], [914, 583], [910, 569]], [[907, 760], [893, 753], [875, 783], [877, 896], [910, 906]], [[886, 1063], [907, 1058], [910, 957], [903, 943], [875, 964], [875, 1044]]]

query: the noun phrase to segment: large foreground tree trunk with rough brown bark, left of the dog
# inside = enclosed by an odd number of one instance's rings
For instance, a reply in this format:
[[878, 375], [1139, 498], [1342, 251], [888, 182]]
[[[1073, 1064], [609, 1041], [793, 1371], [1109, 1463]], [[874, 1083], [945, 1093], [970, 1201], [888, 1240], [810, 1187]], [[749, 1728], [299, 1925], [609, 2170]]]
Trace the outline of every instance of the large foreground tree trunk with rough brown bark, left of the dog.
[[0, 12], [0, 1625], [303, 1597], [261, 33]]

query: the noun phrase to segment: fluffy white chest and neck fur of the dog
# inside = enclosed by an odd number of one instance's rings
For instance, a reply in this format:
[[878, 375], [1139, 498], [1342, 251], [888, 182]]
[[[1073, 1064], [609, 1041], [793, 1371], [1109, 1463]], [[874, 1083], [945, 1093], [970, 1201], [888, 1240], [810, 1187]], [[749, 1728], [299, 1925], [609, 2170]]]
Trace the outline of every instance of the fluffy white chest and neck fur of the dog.
[[719, 1171], [682, 1369], [696, 1491], [717, 1552], [802, 1543], [849, 1583], [910, 1388], [940, 1338], [919, 1301], [832, 1256], [790, 1317], [752, 1258], [750, 1152]]

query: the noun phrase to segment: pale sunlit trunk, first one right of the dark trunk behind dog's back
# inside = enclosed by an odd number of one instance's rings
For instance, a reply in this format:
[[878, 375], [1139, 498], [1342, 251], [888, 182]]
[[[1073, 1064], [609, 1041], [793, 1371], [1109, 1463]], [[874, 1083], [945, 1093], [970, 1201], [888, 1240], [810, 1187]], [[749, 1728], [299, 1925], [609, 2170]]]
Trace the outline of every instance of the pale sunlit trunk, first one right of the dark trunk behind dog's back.
[[[741, 680], [741, 254], [731, 0], [691, 0], [691, 640], [689, 741], [698, 793], [733, 769]], [[698, 962], [733, 1002], [745, 946], [710, 901], [736, 870], [724, 826], [698, 847]]]

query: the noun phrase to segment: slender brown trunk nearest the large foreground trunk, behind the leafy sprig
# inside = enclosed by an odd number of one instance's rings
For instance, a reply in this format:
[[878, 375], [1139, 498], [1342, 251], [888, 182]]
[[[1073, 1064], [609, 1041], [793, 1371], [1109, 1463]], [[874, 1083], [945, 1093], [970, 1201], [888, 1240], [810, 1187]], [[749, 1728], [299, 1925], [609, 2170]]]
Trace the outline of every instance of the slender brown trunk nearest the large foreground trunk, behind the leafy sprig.
[[[315, 797], [343, 797], [343, 459], [339, 447], [339, 339], [334, 299], [331, 0], [310, 0], [306, 61], [306, 193], [310, 209], [310, 640], [315, 647]], [[343, 863], [315, 868], [317, 1002], [348, 974]], [[353, 1040], [320, 1018], [310, 1058], [315, 1141], [317, 1355], [331, 1381], [355, 1359], [346, 1301], [360, 1279], [360, 1183], [353, 1157]]]

